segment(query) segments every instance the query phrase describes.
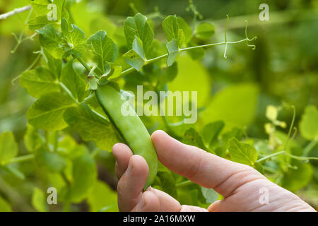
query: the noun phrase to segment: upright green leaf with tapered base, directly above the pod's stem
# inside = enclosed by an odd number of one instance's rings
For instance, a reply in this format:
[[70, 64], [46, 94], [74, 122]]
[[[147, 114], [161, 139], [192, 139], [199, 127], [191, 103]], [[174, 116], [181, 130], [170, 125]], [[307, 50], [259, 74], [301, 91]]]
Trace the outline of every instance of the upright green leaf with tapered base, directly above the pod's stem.
[[105, 30], [100, 30], [88, 39], [93, 53], [98, 61], [98, 67], [105, 73], [106, 63], [114, 62], [117, 58], [118, 48], [112, 39], [106, 35]]

